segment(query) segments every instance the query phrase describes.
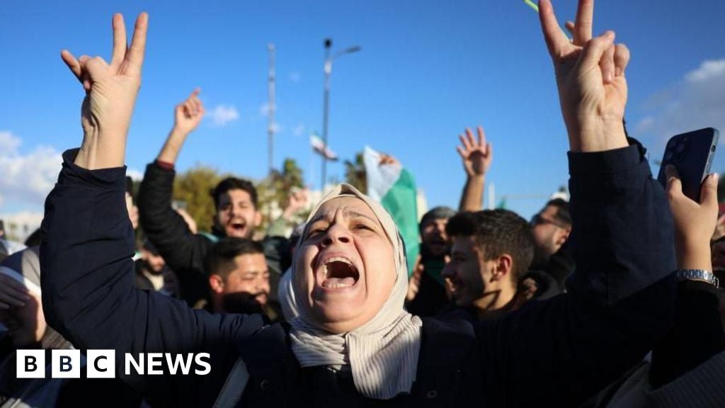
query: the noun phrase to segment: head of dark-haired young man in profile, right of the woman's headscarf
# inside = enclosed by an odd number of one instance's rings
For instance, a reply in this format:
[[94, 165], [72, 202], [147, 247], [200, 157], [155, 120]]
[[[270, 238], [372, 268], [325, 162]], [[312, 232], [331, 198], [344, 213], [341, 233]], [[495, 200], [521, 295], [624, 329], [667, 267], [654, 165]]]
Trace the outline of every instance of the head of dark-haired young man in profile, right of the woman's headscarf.
[[529, 223], [508, 210], [457, 213], [446, 226], [451, 259], [443, 269], [455, 306], [471, 320], [518, 309], [518, 280], [534, 258]]

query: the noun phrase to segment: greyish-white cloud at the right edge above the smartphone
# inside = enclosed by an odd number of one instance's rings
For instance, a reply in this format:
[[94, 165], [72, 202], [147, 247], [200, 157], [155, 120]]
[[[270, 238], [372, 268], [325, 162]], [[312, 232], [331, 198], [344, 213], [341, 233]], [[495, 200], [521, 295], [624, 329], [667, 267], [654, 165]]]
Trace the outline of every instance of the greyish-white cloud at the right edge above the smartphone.
[[[662, 144], [675, 134], [698, 128], [725, 129], [725, 59], [708, 60], [679, 83], [645, 104], [646, 115], [632, 127], [635, 136], [655, 136]], [[725, 142], [725, 138], [721, 138]]]

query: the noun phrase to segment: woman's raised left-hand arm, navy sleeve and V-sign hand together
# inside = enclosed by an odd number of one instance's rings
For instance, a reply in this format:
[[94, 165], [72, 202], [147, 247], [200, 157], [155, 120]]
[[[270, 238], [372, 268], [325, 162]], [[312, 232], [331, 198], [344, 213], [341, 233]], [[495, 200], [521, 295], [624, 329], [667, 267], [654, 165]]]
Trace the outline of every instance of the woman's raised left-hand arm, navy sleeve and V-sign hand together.
[[[63, 52], [86, 89], [84, 138], [79, 150], [64, 153], [58, 183], [46, 200], [41, 245], [43, 311], [49, 325], [75, 347], [114, 349], [118, 372], [123, 372], [126, 352], [138, 357], [148, 352], [207, 351], [210, 379], [223, 380], [228, 364], [220, 361], [226, 361], [231, 352], [228, 340], [254, 319], [195, 312], [180, 301], [133, 288], [133, 230], [124, 203], [123, 150], [141, 83], [147, 19], [144, 13], [136, 20], [126, 52], [123, 17], [114, 16], [110, 65], [100, 57], [75, 60]], [[170, 381], [162, 378], [126, 380], [149, 393], [152, 401], [167, 401], [167, 405], [180, 396], [202, 395], [196, 392], [200, 380], [196, 385], [182, 379], [188, 386], [173, 392], [148, 387], [152, 380]]]

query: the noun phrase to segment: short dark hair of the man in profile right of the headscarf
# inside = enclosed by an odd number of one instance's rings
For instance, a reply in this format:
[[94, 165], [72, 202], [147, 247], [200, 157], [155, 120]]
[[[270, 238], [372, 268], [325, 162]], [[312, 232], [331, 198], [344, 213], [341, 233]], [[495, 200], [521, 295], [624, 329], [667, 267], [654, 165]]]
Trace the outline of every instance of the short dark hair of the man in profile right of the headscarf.
[[511, 278], [518, 282], [534, 260], [534, 236], [525, 219], [513, 211], [497, 209], [457, 213], [448, 220], [450, 237], [474, 237], [486, 261], [507, 253], [513, 258]]

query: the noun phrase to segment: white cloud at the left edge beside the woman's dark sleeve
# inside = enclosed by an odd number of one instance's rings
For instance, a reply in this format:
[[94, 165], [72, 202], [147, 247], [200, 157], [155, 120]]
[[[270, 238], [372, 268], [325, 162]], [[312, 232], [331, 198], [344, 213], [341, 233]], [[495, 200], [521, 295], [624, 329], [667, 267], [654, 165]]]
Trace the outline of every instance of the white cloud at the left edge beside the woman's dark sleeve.
[[0, 198], [5, 204], [42, 205], [58, 178], [60, 152], [38, 146], [24, 155], [20, 144], [19, 137], [0, 131]]

